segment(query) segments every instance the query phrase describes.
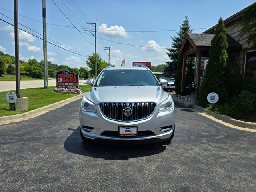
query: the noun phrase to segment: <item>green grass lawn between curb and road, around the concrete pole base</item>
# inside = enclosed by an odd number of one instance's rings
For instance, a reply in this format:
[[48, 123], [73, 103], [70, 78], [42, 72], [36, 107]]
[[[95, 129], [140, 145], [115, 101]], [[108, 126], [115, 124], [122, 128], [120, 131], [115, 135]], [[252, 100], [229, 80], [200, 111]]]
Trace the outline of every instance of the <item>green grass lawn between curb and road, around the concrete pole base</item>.
[[[77, 94], [55, 93], [53, 92], [54, 88], [55, 86], [49, 87], [48, 89], [44, 89], [44, 88], [22, 89], [20, 92], [24, 94], [25, 97], [28, 98], [27, 111], [31, 111], [46, 105], [50, 105], [58, 101], [65, 100], [77, 95]], [[80, 89], [83, 92], [88, 92], [91, 88], [92, 86], [89, 86], [89, 85], [80, 86]], [[9, 103], [5, 99], [7, 92], [10, 92], [10, 91], [0, 92], [0, 117], [27, 112], [27, 111], [10, 111]], [[15, 93], [15, 90], [11, 92]]]

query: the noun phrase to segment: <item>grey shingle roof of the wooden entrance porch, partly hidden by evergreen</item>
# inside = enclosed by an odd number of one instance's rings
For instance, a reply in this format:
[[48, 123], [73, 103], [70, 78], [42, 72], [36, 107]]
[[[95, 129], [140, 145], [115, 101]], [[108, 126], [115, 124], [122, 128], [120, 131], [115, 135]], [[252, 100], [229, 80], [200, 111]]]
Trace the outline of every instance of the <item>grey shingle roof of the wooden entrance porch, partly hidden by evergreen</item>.
[[[194, 44], [196, 44], [196, 46], [211, 46], [211, 41], [214, 36], [214, 34], [207, 33], [188, 33], [188, 35], [193, 40]], [[228, 47], [241, 47], [241, 45], [228, 34], [226, 34], [226, 36]]]

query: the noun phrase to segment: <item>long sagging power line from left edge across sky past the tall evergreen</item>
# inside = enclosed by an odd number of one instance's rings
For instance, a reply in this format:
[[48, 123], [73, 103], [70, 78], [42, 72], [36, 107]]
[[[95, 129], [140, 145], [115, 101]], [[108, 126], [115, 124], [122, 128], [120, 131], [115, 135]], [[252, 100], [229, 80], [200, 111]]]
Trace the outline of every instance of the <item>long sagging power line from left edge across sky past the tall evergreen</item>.
[[[3, 10], [6, 10], [8, 12], [11, 12], [13, 13], [12, 11], [10, 10], [7, 10], [5, 8], [2, 8], [0, 7], [1, 9]], [[42, 23], [42, 21], [39, 21], [39, 20], [35, 20], [35, 19], [32, 19], [32, 18], [29, 18], [27, 16], [23, 16], [23, 15], [20, 15], [19, 16], [22, 16], [24, 18], [28, 18], [28, 19], [31, 19], [31, 20], [34, 20], [36, 22], [40, 22]], [[89, 20], [90, 21], [90, 20]], [[59, 24], [52, 24], [52, 23], [47, 23], [48, 25], [55, 25], [55, 26], [60, 26], [60, 27], [68, 27], [68, 28], [78, 28], [78, 29], [87, 29], [87, 30], [90, 30], [91, 28], [82, 28], [82, 27], [72, 27], [72, 26], [66, 26], [66, 25], [59, 25]], [[209, 29], [210, 27], [207, 27], [207, 28], [194, 28], [194, 29], [191, 29], [191, 30], [200, 30], [200, 29]], [[120, 31], [120, 32], [124, 32], [124, 30], [106, 30], [106, 29], [97, 29], [97, 31]], [[179, 31], [179, 29], [176, 29], [176, 30], [125, 30], [125, 32], [170, 32], [170, 31]]]

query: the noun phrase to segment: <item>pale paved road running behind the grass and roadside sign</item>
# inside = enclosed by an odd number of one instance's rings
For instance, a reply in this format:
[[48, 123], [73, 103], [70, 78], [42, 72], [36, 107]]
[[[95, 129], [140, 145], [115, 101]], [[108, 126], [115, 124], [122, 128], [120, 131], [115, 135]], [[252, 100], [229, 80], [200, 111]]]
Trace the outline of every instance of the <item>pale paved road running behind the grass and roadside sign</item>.
[[[85, 80], [79, 80], [85, 83]], [[48, 80], [48, 86], [56, 86], [56, 80]], [[20, 81], [20, 89], [44, 87], [44, 80]], [[16, 89], [16, 81], [0, 81], [0, 91], [10, 91]]]

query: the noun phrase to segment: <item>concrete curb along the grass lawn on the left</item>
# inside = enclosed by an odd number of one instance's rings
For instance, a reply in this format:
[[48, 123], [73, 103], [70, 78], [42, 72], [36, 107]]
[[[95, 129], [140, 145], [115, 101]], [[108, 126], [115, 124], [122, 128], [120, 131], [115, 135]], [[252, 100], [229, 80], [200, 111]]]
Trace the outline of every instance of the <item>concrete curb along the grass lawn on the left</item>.
[[17, 115], [10, 115], [10, 116], [3, 116], [0, 117], [0, 125], [4, 125], [4, 124], [8, 124], [11, 122], [18, 122], [18, 121], [24, 121], [24, 120], [28, 120], [31, 118], [35, 118], [38, 117], [42, 114], [45, 114], [51, 110], [57, 109], [59, 107], [62, 107], [68, 103], [71, 103], [73, 101], [76, 101], [78, 99], [81, 99], [84, 96], [85, 93], [38, 108], [38, 109], [34, 109], [22, 114], [17, 114]]

